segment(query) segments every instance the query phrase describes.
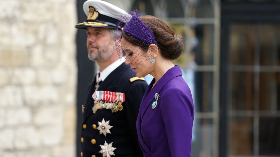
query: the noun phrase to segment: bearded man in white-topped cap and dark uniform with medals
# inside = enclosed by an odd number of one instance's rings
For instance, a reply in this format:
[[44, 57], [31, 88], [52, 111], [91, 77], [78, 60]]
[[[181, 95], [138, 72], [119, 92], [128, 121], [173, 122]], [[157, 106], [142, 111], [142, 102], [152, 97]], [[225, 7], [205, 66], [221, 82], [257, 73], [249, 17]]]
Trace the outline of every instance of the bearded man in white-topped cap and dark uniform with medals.
[[88, 18], [75, 27], [87, 30], [88, 57], [99, 69], [82, 106], [81, 156], [143, 156], [136, 119], [147, 83], [120, 61], [113, 38], [126, 12], [101, 0], [86, 1], [83, 10]]

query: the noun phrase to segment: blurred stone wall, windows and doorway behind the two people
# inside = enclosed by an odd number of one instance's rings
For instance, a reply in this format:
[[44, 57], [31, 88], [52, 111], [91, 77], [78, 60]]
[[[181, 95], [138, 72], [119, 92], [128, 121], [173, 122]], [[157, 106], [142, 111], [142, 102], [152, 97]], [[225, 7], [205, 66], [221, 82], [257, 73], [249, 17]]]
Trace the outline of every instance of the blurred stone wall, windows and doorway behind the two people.
[[[168, 23], [195, 105], [192, 157], [280, 156], [280, 0], [106, 0]], [[0, 0], [0, 157], [80, 156], [85, 0]], [[146, 77], [147, 82], [151, 76]]]

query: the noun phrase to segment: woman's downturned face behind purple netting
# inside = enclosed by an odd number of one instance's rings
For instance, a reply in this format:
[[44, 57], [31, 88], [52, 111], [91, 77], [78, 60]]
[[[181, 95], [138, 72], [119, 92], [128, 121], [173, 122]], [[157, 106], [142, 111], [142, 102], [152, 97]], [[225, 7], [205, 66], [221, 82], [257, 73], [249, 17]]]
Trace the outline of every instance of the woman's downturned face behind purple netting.
[[122, 49], [126, 55], [125, 64], [130, 65], [137, 77], [144, 77], [152, 70], [150, 51], [144, 51], [140, 46], [135, 46], [122, 38]]

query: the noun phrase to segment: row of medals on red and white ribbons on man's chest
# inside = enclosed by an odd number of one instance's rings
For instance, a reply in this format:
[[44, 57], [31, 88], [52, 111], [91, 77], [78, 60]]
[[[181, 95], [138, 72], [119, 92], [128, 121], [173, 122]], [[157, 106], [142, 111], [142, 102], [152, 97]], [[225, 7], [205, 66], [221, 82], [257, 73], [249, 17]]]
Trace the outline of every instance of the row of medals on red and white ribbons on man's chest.
[[111, 91], [95, 91], [92, 94], [94, 99], [94, 106], [92, 108], [93, 113], [97, 110], [107, 109], [112, 112], [118, 112], [123, 110], [122, 103], [125, 102], [125, 94], [120, 92]]

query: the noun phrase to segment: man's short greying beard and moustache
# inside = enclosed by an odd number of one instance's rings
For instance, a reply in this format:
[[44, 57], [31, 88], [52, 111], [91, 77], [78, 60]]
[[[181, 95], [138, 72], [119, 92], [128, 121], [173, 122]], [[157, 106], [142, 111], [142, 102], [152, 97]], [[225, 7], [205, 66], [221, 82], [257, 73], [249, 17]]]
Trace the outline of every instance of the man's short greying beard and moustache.
[[109, 57], [111, 57], [114, 53], [114, 48], [115, 48], [115, 45], [112, 45], [112, 44], [103, 46], [103, 48], [95, 46], [92, 43], [90, 43], [89, 46], [93, 46], [96, 49], [95, 50], [88, 49], [88, 58], [92, 61], [98, 61], [98, 62], [105, 61]]

